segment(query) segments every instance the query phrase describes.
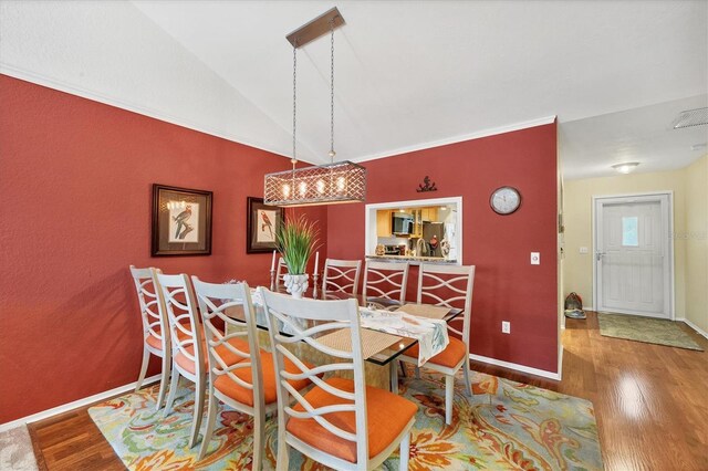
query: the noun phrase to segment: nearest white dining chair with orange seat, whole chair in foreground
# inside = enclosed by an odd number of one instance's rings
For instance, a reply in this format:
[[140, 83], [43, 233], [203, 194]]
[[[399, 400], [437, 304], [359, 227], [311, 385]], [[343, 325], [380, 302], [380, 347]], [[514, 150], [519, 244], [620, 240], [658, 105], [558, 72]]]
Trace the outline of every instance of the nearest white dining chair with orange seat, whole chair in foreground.
[[[289, 447], [339, 470], [376, 468], [398, 448], [400, 469], [408, 469], [417, 406], [365, 385], [356, 300], [296, 300], [263, 290], [263, 305], [278, 379], [277, 469], [288, 469]], [[281, 334], [280, 325], [293, 334]], [[339, 331], [344, 331], [342, 337], [350, 348], [319, 341], [324, 342], [321, 335]], [[324, 354], [323, 363], [315, 368], [306, 367], [288, 348], [303, 341]], [[302, 373], [288, 373], [283, 368], [288, 360]], [[351, 371], [354, 379], [333, 376], [337, 371]], [[304, 378], [314, 386], [301, 395], [289, 380]], [[293, 407], [289, 406], [291, 400]]]

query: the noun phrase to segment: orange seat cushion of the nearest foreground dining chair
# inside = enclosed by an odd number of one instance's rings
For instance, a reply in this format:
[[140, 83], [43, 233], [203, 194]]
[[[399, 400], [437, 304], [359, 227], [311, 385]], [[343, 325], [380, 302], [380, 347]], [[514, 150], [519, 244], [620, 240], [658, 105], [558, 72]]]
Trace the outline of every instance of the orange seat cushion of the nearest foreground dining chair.
[[[330, 378], [326, 383], [337, 389], [354, 391], [354, 381], [351, 379]], [[348, 402], [319, 387], [312, 388], [304, 397], [314, 408]], [[384, 451], [400, 435], [418, 411], [418, 407], [408, 399], [371, 386], [366, 387], [366, 408], [368, 458], [373, 458]], [[293, 409], [304, 411], [300, 404], [296, 404]], [[351, 433], [356, 432], [354, 412], [332, 412], [322, 417], [342, 430]], [[327, 431], [314, 419], [290, 417], [285, 428], [290, 433], [311, 447], [343, 460], [356, 462], [356, 443]]]

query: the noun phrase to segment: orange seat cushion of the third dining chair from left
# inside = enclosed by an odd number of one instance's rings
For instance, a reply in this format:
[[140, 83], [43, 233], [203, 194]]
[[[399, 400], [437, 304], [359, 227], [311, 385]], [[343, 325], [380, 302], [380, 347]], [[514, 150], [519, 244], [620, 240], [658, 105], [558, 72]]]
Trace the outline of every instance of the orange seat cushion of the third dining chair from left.
[[[295, 366], [295, 364], [290, 359], [284, 358], [284, 360], [285, 371], [293, 374], [301, 373], [301, 369], [298, 368], [298, 366]], [[312, 364], [306, 362], [305, 365], [308, 366], [308, 368], [314, 367]], [[266, 404], [275, 402], [275, 400], [278, 400], [275, 366], [273, 365], [273, 355], [269, 352], [261, 350], [261, 370], [263, 374], [263, 399], [266, 400]], [[243, 379], [246, 383], [252, 384], [253, 381], [253, 371], [251, 368], [237, 368], [233, 370], [233, 374], [240, 379]], [[289, 380], [288, 383], [290, 383], [290, 385], [296, 390], [300, 390], [306, 387], [310, 384], [310, 380], [299, 379]], [[251, 407], [253, 406], [253, 390], [247, 389], [243, 386], [237, 384], [228, 375], [221, 375], [217, 379], [215, 379], [214, 387], [233, 400]]]

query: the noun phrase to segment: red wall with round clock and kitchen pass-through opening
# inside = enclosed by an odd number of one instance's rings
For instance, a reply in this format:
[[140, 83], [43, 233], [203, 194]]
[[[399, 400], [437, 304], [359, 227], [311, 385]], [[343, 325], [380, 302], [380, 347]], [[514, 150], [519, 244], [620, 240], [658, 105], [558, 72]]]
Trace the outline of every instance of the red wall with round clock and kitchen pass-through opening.
[[[471, 353], [558, 370], [556, 125], [403, 154], [364, 164], [367, 203], [462, 197], [464, 264], [477, 266]], [[418, 193], [428, 175], [438, 191]], [[519, 188], [521, 208], [499, 216], [489, 197], [500, 186]], [[327, 255], [364, 258], [365, 206], [329, 209]], [[541, 264], [530, 264], [530, 252]], [[417, 293], [417, 268], [408, 297]], [[511, 334], [501, 322], [511, 322]]]

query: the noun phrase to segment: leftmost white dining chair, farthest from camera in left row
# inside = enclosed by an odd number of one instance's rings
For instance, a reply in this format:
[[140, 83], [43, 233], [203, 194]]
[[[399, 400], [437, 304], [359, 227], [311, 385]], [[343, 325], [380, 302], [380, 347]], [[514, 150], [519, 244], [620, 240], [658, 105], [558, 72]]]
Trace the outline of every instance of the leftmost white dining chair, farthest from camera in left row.
[[135, 283], [137, 300], [140, 306], [140, 318], [143, 320], [143, 365], [140, 374], [135, 385], [135, 390], [139, 390], [147, 374], [147, 366], [150, 355], [162, 358], [163, 373], [159, 379], [159, 393], [155, 404], [155, 410], [163, 407], [169, 374], [171, 371], [171, 352], [169, 342], [169, 323], [165, 311], [165, 299], [157, 282], [159, 269], [147, 268], [137, 269], [131, 265], [131, 275]]

